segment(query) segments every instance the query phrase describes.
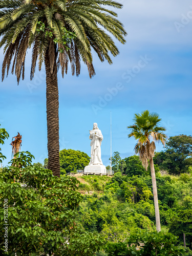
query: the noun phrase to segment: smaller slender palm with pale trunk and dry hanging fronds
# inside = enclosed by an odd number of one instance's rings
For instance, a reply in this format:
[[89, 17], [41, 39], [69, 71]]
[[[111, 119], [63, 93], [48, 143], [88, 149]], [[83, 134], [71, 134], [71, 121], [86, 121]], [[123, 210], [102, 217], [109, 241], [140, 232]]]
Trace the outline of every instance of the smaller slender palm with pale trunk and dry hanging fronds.
[[127, 126], [128, 129], [131, 129], [131, 133], [128, 135], [128, 137], [134, 137], [136, 140], [138, 140], [134, 150], [136, 154], [139, 154], [142, 164], [146, 169], [148, 167], [148, 160], [150, 161], [155, 204], [156, 229], [159, 232], [161, 231], [161, 224], [153, 157], [156, 148], [155, 142], [161, 142], [163, 145], [165, 145], [167, 136], [163, 133], [165, 128], [159, 126], [161, 118], [159, 118], [159, 115], [156, 113], [150, 113], [148, 110], [145, 110], [141, 112], [141, 114], [135, 114], [133, 121], [133, 125]]

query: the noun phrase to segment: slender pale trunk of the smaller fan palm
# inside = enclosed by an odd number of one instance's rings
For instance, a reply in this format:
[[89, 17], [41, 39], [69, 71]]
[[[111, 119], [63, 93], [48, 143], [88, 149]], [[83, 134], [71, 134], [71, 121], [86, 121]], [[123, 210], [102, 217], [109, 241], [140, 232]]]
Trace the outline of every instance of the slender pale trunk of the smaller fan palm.
[[151, 174], [152, 174], [153, 196], [154, 196], [154, 204], [155, 204], [156, 229], [159, 232], [159, 231], [161, 231], [161, 224], [160, 224], [159, 204], [158, 204], [158, 196], [157, 196], [157, 184], [156, 184], [153, 158], [150, 159], [150, 168], [151, 168]]

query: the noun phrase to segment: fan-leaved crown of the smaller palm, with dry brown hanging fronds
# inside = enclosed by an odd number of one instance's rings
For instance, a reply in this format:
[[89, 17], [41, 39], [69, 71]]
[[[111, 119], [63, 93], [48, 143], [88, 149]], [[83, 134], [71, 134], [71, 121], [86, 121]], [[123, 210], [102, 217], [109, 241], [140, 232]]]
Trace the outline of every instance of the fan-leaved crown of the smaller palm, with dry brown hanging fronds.
[[[145, 168], [148, 166], [147, 159], [153, 158], [155, 152], [155, 142], [161, 142], [165, 145], [167, 136], [163, 133], [166, 131], [164, 127], [159, 126], [161, 118], [157, 113], [150, 113], [148, 110], [140, 114], [135, 114], [133, 119], [135, 122], [131, 126], [127, 126], [132, 132], [128, 137], [134, 137], [138, 140], [135, 145], [135, 153], [140, 155]], [[152, 142], [151, 142], [152, 139]]]

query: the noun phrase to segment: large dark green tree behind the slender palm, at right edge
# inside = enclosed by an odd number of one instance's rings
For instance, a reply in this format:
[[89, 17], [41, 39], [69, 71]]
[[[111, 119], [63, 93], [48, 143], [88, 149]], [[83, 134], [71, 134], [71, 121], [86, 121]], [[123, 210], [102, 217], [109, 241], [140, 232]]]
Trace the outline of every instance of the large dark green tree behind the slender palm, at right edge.
[[178, 135], [170, 137], [165, 145], [165, 151], [155, 155], [154, 161], [161, 169], [171, 174], [187, 172], [192, 166], [192, 137]]

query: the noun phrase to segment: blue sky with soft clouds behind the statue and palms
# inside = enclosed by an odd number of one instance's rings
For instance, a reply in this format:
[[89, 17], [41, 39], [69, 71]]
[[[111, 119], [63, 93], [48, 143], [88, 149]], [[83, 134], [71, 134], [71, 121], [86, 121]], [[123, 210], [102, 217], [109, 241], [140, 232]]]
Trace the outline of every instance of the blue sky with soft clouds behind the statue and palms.
[[[102, 160], [109, 164], [110, 112], [112, 151], [122, 158], [134, 154], [134, 139], [127, 138], [127, 125], [134, 113], [157, 112], [167, 136], [191, 135], [192, 110], [192, 4], [186, 0], [121, 0], [116, 10], [127, 31], [126, 44], [116, 42], [120, 54], [113, 65], [94, 56], [96, 76], [89, 78], [81, 66], [79, 77], [58, 73], [60, 150], [72, 148], [90, 155], [89, 130], [97, 122], [103, 134]], [[0, 50], [0, 67], [3, 49]], [[9, 75], [0, 82], [0, 123], [9, 135], [2, 146], [11, 159], [11, 139], [22, 134], [22, 151], [35, 162], [47, 157], [45, 69], [30, 81], [31, 54], [26, 60], [25, 80], [17, 86]], [[157, 150], [163, 147], [157, 145]]]

